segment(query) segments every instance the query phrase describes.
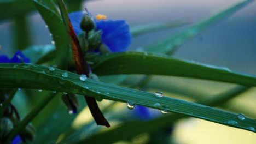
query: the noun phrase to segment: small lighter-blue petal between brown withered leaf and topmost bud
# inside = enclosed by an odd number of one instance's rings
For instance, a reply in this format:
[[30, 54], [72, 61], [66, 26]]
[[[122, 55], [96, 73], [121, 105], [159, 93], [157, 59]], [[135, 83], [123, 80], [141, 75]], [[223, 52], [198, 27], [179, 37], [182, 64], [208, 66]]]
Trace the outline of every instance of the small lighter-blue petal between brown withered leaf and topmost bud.
[[75, 34], [77, 35], [81, 34], [83, 30], [80, 28], [80, 23], [82, 21], [84, 14], [78, 11], [78, 12], [73, 12], [68, 14], [68, 16], [74, 28]]

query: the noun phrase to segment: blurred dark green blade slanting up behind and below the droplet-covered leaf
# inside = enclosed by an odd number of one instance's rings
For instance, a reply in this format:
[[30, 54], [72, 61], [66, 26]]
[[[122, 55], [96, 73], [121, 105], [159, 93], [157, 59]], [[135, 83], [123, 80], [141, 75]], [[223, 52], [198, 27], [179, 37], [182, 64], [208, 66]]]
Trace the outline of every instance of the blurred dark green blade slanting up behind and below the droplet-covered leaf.
[[[243, 93], [247, 90], [246, 87], [235, 87], [226, 91], [222, 94], [216, 95], [213, 98], [206, 98], [198, 101], [197, 103], [208, 105], [208, 106], [218, 106], [219, 104], [224, 104], [226, 101], [236, 97], [236, 95]], [[136, 109], [136, 108], [135, 108]], [[156, 118], [152, 121], [132, 121], [121, 125], [117, 125], [110, 130], [102, 131], [90, 137], [80, 140], [77, 143], [114, 143], [122, 140], [130, 140], [132, 137], [137, 136], [141, 133], [150, 133], [153, 131], [158, 131], [160, 129], [170, 127], [178, 119], [185, 118], [185, 115], [167, 115]], [[132, 133], [126, 133], [125, 135], [120, 135], [123, 131], [132, 131]], [[117, 136], [118, 135], [118, 136]], [[111, 139], [109, 139], [111, 137]]]

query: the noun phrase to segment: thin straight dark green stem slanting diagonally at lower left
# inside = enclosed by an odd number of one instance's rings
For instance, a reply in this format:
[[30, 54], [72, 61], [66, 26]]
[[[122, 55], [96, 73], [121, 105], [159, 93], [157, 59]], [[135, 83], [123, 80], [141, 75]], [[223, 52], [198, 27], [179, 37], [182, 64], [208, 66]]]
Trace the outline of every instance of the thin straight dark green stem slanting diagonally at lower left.
[[46, 95], [46, 97], [42, 101], [40, 101], [40, 103], [36, 105], [34, 109], [30, 113], [28, 113], [28, 115], [24, 119], [22, 119], [22, 121], [17, 125], [17, 127], [15, 127], [10, 132], [10, 134], [7, 136], [6, 142], [10, 142], [11, 140], [13, 140], [14, 137], [18, 135], [20, 131], [24, 129], [27, 126], [27, 124], [31, 122], [34, 119], [34, 117], [36, 117], [38, 113], [44, 109], [44, 107], [54, 98], [55, 95], [56, 93]]

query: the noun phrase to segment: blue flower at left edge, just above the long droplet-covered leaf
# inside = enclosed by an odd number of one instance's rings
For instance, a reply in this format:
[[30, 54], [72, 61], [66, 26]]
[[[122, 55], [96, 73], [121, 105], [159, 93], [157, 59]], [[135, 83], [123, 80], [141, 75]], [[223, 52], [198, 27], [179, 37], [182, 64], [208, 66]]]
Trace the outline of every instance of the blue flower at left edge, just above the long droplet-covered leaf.
[[25, 55], [23, 55], [23, 53], [18, 50], [13, 58], [9, 59], [8, 56], [6, 55], [0, 55], [0, 63], [22, 63], [22, 62], [25, 62], [25, 63], [29, 63], [30, 62], [30, 59], [27, 58]]

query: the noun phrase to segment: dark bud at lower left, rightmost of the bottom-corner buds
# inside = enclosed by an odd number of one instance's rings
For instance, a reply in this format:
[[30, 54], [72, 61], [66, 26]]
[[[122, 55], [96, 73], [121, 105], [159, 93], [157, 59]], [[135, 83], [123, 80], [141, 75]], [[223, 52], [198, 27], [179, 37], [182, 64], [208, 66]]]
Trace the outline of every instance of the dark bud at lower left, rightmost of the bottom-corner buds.
[[26, 128], [21, 131], [20, 136], [23, 140], [34, 140], [34, 137], [36, 137], [36, 129], [34, 129], [32, 123], [27, 124]]

